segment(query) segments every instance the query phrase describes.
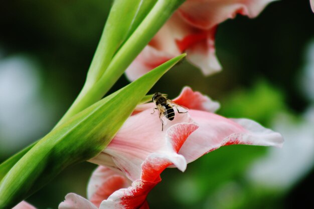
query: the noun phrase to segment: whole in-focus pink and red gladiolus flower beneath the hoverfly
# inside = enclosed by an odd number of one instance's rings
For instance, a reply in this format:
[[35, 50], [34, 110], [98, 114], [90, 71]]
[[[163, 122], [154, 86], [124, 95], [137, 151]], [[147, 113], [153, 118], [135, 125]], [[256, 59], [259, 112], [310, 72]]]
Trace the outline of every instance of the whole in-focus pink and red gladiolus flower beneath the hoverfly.
[[279, 133], [252, 120], [212, 113], [219, 104], [189, 87], [174, 102], [189, 112], [176, 112], [164, 131], [158, 114], [151, 114], [155, 105], [139, 105], [106, 149], [90, 160], [104, 166], [91, 176], [89, 200], [70, 193], [59, 209], [149, 208], [146, 196], [169, 166], [184, 171], [187, 163], [224, 145], [282, 145]]

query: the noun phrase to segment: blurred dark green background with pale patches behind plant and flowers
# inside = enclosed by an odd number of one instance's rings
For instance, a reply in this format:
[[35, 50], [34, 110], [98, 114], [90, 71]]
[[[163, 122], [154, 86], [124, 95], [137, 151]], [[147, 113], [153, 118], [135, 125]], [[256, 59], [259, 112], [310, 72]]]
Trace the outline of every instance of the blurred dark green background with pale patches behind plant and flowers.
[[[0, 161], [45, 135], [74, 101], [110, 4], [2, 2]], [[222, 147], [184, 173], [167, 169], [149, 193], [150, 208], [314, 208], [313, 23], [307, 0], [274, 2], [253, 20], [238, 16], [218, 28], [221, 73], [203, 77], [184, 61], [153, 87], [174, 98], [191, 86], [220, 101], [219, 114], [254, 119], [286, 142], [282, 149]], [[122, 76], [111, 92], [126, 84]], [[57, 208], [69, 192], [85, 196], [95, 167], [72, 166], [27, 200]]]

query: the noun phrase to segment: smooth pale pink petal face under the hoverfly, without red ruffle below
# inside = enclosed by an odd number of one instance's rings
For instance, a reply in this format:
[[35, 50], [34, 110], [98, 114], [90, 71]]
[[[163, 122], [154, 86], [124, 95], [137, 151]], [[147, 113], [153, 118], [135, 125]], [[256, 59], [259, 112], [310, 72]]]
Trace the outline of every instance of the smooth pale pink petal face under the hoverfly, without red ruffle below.
[[[103, 151], [131, 180], [140, 179], [141, 164], [149, 155], [167, 158], [181, 170], [186, 167], [184, 157], [177, 154], [178, 146], [181, 147], [188, 137], [187, 133], [190, 134], [198, 126], [188, 113], [176, 113], [175, 119], [164, 125], [162, 131], [158, 112], [151, 114], [152, 111], [153, 108], [146, 109], [129, 117]], [[91, 161], [95, 160], [97, 157]]]

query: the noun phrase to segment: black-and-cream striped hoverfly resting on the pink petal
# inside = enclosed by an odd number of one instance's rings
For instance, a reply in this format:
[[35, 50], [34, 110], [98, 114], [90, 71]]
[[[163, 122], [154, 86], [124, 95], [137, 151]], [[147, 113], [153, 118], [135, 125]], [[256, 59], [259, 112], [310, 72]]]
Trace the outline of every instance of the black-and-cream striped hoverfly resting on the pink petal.
[[153, 109], [153, 114], [155, 110], [158, 110], [159, 112], [159, 119], [162, 121], [162, 131], [164, 130], [164, 124], [167, 123], [167, 120], [173, 120], [175, 119], [175, 110], [174, 107], [176, 107], [178, 113], [187, 113], [186, 112], [180, 112], [178, 107], [181, 107], [186, 110], [186, 108], [176, 104], [174, 101], [167, 99], [165, 94], [162, 93], [154, 93], [152, 95], [152, 101], [156, 104], [156, 107]]

